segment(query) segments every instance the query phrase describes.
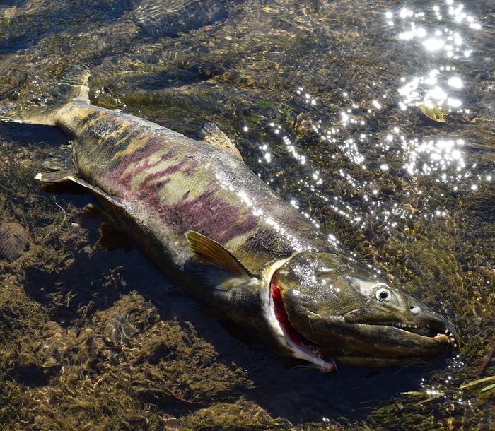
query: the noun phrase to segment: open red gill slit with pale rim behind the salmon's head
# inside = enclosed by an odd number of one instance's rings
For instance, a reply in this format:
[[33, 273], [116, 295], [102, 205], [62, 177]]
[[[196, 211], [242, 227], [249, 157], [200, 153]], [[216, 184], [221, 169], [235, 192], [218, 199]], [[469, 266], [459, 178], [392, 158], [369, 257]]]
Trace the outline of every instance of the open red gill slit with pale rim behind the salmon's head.
[[337, 370], [335, 362], [330, 358], [325, 358], [323, 353], [320, 352], [320, 348], [299, 333], [289, 321], [281, 290], [276, 285], [277, 274], [278, 271], [275, 271], [269, 286], [270, 321], [276, 332], [283, 336], [285, 347], [291, 350], [291, 354], [294, 357], [313, 363], [323, 372]]

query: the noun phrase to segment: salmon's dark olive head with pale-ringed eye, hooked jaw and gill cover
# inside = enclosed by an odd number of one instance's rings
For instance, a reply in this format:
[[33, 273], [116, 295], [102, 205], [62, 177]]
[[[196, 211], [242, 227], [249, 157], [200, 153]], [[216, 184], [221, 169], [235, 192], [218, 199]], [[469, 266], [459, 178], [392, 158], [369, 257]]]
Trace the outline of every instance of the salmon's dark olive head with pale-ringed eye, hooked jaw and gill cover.
[[269, 302], [292, 355], [325, 371], [334, 368], [330, 358], [404, 365], [437, 358], [458, 344], [450, 321], [352, 256], [296, 254], [272, 272]]

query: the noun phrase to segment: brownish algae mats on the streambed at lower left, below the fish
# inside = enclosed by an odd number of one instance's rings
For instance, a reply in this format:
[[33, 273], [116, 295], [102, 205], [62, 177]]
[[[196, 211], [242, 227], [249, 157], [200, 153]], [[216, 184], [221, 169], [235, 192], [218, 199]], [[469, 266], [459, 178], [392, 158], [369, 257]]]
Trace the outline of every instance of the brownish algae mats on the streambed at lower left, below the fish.
[[[190, 324], [164, 321], [136, 293], [120, 297], [126, 282], [119, 268], [97, 272], [92, 283], [60, 283], [93, 256], [79, 226], [81, 209], [54, 205], [32, 184], [37, 163], [2, 160], [0, 176], [10, 181], [2, 182], [1, 208], [12, 217], [21, 206], [33, 232], [19, 259], [0, 261], [4, 429], [158, 430], [164, 413], [153, 406], [187, 411], [250, 387], [245, 373], [219, 362]], [[117, 302], [105, 308], [110, 298], [110, 305]], [[61, 326], [61, 317], [71, 324]]]

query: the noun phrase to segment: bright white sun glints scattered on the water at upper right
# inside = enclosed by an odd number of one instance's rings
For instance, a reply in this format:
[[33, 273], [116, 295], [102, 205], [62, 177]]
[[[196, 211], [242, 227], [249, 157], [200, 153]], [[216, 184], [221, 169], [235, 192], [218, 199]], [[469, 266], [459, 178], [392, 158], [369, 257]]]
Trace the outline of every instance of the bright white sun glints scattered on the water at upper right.
[[[405, 178], [428, 175], [436, 182], [451, 184], [453, 191], [477, 191], [477, 180], [489, 181], [491, 175], [483, 175], [482, 170], [486, 167], [478, 172], [476, 163], [466, 163], [466, 142], [457, 137], [459, 131], [455, 130], [455, 127], [450, 127], [448, 131], [441, 133], [433, 131], [425, 134], [420, 131], [418, 134], [416, 131], [410, 134], [408, 131], [402, 131], [400, 126], [375, 130], [374, 124], [371, 126], [369, 123], [374, 123], [382, 115], [380, 111], [390, 110], [391, 105], [400, 107], [400, 110], [404, 111], [402, 115], [410, 115], [411, 110], [414, 110], [415, 114], [423, 112], [426, 117], [437, 122], [450, 122], [451, 117], [456, 114], [458, 118], [462, 114], [464, 116], [471, 114], [469, 107], [463, 107], [462, 100], [463, 95], [469, 95], [473, 89], [469, 88], [469, 85], [465, 86], [461, 76], [462, 71], [469, 73], [469, 69], [478, 66], [472, 61], [466, 62], [466, 59], [472, 53], [471, 39], [477, 35], [473, 32], [481, 30], [482, 25], [473, 16], [465, 13], [462, 4], [454, 4], [453, 1], [445, 1], [445, 4], [441, 5], [427, 3], [424, 6], [417, 6], [414, 10], [405, 7], [390, 9], [385, 12], [385, 18], [389, 26], [386, 31], [395, 35], [401, 44], [409, 43], [414, 49], [417, 49], [418, 44], [424, 47], [424, 54], [416, 52], [414, 60], [411, 61], [417, 63], [414, 67], [414, 76], [400, 76], [399, 81], [380, 83], [380, 93], [374, 94], [371, 100], [356, 98], [353, 101], [347, 91], [342, 91], [342, 100], [346, 103], [339, 107], [338, 115], [327, 118], [320, 117], [319, 112], [315, 114], [311, 110], [311, 107], [318, 105], [318, 97], [299, 87], [296, 90], [296, 97], [300, 98], [298, 105], [307, 105], [303, 112], [313, 117], [313, 121], [308, 122], [305, 133], [309, 131], [310, 134], [317, 136], [323, 146], [327, 144], [329, 148], [338, 150], [344, 158], [361, 170], [366, 170], [371, 165], [372, 168], [378, 167], [379, 170], [387, 172], [390, 170], [390, 165], [386, 163], [386, 158], [390, 153], [395, 153], [394, 165], [397, 165], [397, 158], [402, 161], [401, 168]], [[443, 49], [445, 55], [434, 53], [439, 49]], [[456, 65], [462, 71], [458, 70]], [[427, 71], [418, 76], [417, 71], [425, 68]], [[378, 87], [375, 82], [372, 85]], [[470, 81], [470, 85], [478, 85], [478, 83]], [[288, 104], [294, 104], [293, 100], [288, 101]], [[450, 117], [446, 120], [445, 116]], [[269, 123], [269, 127], [274, 136], [281, 138], [288, 155], [301, 165], [305, 165], [307, 156], [301, 148], [294, 145], [290, 134], [274, 122]], [[270, 163], [272, 152], [267, 144], [259, 148], [262, 150], [259, 163]], [[375, 159], [376, 155], [383, 160], [383, 163], [378, 165], [374, 160], [369, 160]], [[331, 154], [330, 157], [335, 159], [335, 154]], [[335, 175], [336, 172], [332, 174]], [[365, 213], [351, 206], [349, 202], [339, 202], [338, 196], [323, 194], [320, 191], [321, 187], [318, 186], [325, 179], [320, 175], [318, 166], [315, 166], [315, 170], [308, 177], [299, 179], [298, 184], [301, 184], [300, 190], [307, 189], [314, 196], [318, 196], [322, 200], [321, 205], [331, 202], [330, 208], [335, 213], [349, 220], [351, 224], [361, 225], [361, 228], [365, 228], [367, 218], [375, 218], [383, 221], [384, 230], [390, 233], [390, 229], [397, 226], [396, 218], [413, 218], [412, 213], [401, 208], [397, 209], [397, 202], [393, 203], [392, 208], [387, 208], [388, 205], [384, 201], [370, 199], [366, 181], [359, 184], [349, 172], [344, 172], [342, 169], [339, 169], [339, 175], [346, 179], [355, 191], [361, 193], [363, 201], [370, 202], [371, 206], [376, 208], [368, 209]], [[269, 183], [272, 181], [273, 179], [269, 180]], [[412, 187], [411, 194], [422, 193], [421, 189]], [[376, 194], [378, 191], [374, 189], [371, 196]], [[292, 199], [291, 202], [294, 204], [296, 201]], [[414, 211], [414, 218], [446, 215], [445, 211], [438, 209], [433, 212], [428, 211], [428, 208], [424, 210]], [[308, 213], [303, 212], [303, 214], [310, 217]], [[312, 220], [319, 227], [318, 221], [314, 218]]]

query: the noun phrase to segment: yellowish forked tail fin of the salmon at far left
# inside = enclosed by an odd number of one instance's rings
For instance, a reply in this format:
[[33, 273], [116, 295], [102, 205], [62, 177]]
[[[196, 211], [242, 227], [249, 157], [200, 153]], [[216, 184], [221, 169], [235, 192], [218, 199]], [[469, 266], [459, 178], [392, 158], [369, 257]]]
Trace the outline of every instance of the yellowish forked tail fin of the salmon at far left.
[[34, 102], [0, 103], [0, 121], [54, 126], [57, 121], [55, 114], [62, 105], [70, 101], [89, 103], [89, 70], [86, 64], [72, 68], [59, 85], [50, 90], [42, 105]]

